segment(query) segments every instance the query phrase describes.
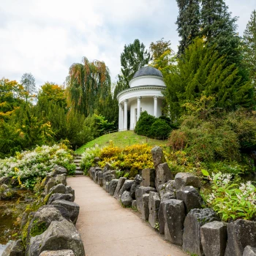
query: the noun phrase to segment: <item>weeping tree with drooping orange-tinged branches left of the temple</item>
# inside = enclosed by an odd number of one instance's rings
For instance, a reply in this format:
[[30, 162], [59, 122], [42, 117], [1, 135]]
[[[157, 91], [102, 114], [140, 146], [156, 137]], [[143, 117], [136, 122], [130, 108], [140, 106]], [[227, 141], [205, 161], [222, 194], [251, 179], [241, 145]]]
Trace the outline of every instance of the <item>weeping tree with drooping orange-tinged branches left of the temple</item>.
[[83, 57], [81, 64], [75, 63], [69, 68], [66, 81], [67, 102], [72, 110], [89, 116], [97, 112], [102, 102], [108, 102], [105, 99], [111, 94], [111, 80], [103, 61], [90, 62]]

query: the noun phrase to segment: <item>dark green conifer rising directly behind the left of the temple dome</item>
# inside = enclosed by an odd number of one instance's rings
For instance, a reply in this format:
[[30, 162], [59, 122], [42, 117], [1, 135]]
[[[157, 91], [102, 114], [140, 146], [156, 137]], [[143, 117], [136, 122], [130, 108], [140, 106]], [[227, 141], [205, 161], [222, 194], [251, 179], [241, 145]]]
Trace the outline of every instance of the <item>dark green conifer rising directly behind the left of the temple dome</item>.
[[129, 81], [135, 72], [148, 64], [149, 60], [150, 54], [139, 39], [135, 39], [132, 44], [124, 45], [124, 52], [121, 53], [121, 75], [118, 75], [118, 80], [123, 83], [123, 87], [129, 88]]

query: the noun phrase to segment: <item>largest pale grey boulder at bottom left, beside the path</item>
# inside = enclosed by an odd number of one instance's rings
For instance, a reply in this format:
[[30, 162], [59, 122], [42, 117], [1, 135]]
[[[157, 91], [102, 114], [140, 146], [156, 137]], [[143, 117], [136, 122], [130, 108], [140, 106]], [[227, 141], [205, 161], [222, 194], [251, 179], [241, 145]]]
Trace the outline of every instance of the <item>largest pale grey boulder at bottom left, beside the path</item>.
[[31, 237], [29, 256], [38, 256], [43, 251], [71, 249], [76, 256], [85, 256], [83, 241], [75, 226], [63, 219], [53, 221], [44, 233]]

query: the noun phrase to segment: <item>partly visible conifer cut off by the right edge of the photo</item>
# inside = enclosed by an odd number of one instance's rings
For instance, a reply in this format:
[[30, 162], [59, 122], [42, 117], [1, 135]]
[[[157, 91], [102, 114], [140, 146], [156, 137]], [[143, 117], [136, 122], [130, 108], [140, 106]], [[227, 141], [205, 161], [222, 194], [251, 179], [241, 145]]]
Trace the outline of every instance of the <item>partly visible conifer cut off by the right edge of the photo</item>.
[[244, 65], [250, 78], [256, 83], [256, 10], [253, 10], [243, 37]]

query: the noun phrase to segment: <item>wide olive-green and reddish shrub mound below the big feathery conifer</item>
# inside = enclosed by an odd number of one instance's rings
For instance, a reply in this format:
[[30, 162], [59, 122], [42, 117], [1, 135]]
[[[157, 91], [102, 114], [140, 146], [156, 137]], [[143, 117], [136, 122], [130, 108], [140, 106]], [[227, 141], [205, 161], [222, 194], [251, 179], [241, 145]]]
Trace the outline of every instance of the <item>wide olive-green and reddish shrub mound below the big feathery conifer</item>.
[[198, 120], [196, 125], [196, 118], [185, 119], [181, 128], [170, 135], [168, 145], [174, 150], [186, 148], [190, 157], [197, 161], [241, 159], [238, 136], [222, 120]]

